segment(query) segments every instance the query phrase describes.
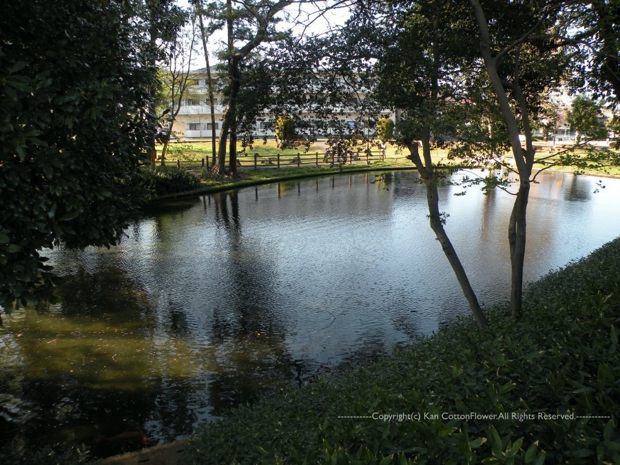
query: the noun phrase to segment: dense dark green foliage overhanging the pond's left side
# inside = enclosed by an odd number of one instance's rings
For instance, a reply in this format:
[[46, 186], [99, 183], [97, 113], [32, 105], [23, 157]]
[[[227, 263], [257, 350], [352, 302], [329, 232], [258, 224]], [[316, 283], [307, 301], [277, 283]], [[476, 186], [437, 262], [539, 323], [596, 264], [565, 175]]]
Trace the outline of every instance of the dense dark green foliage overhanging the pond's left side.
[[[136, 182], [153, 73], [129, 2], [10, 2], [0, 15], [0, 306], [46, 300], [39, 251], [110, 245]], [[143, 50], [146, 50], [145, 48]], [[151, 132], [152, 134], [152, 132]]]

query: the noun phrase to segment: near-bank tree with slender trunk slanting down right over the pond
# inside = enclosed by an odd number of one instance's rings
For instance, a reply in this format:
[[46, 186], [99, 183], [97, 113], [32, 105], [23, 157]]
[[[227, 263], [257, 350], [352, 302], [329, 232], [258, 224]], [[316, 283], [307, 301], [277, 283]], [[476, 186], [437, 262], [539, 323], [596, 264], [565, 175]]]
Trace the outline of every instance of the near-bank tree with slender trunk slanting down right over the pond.
[[[426, 188], [431, 229], [477, 324], [483, 327], [484, 312], [444, 229], [446, 215], [440, 211], [438, 186], [447, 182], [451, 172], [435, 166], [431, 159], [431, 149], [444, 147], [444, 136], [455, 132], [455, 120], [461, 117], [465, 99], [459, 70], [475, 58], [471, 54], [475, 50], [473, 23], [461, 18], [462, 5], [451, 0], [391, 3], [390, 8], [380, 2], [364, 3], [340, 41], [345, 41], [345, 48], [349, 45], [355, 56], [362, 55], [364, 63], [375, 61], [373, 79], [365, 84], [373, 89], [378, 107], [400, 110], [397, 143], [409, 149], [408, 158]], [[343, 53], [347, 56], [346, 51]], [[333, 59], [333, 54], [329, 56]]]

